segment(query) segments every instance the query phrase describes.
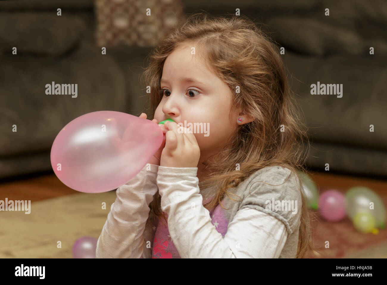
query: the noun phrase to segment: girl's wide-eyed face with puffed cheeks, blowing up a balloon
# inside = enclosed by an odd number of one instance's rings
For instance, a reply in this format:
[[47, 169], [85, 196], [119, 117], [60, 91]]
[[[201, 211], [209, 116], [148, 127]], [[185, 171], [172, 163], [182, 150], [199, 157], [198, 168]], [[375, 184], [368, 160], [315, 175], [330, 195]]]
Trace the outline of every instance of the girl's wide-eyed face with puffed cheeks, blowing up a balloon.
[[[191, 47], [195, 47], [196, 54], [191, 54]], [[200, 52], [203, 50], [197, 46], [185, 44], [166, 58], [160, 83], [163, 98], [154, 118], [158, 122], [173, 119], [183, 126], [187, 121], [187, 128], [192, 123], [202, 157], [226, 144], [236, 131], [239, 112], [230, 121], [231, 90], [205, 66], [198, 56]], [[195, 133], [200, 131], [195, 123], [202, 123], [202, 133]]]

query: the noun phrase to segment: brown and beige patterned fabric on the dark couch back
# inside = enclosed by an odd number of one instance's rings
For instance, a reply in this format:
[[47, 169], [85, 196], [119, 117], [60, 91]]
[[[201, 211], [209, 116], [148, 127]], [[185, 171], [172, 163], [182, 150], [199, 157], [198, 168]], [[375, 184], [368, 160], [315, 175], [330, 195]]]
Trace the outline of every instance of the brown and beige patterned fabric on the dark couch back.
[[182, 0], [95, 0], [95, 11], [99, 47], [154, 46], [184, 16]]

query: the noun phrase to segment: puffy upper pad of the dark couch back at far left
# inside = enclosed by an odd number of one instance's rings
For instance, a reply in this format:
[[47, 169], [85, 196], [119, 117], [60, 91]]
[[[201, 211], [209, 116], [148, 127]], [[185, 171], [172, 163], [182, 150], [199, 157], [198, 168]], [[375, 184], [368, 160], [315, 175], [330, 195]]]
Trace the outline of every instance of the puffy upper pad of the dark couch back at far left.
[[74, 48], [86, 26], [78, 17], [56, 13], [0, 13], [0, 52], [62, 55]]

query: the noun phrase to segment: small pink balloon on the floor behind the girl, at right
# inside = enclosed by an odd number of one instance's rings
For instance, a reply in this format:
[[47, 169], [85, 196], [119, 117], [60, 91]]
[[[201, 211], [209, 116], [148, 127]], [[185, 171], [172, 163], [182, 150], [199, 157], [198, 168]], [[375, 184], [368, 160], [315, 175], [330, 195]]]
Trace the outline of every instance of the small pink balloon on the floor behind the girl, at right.
[[337, 190], [328, 190], [319, 197], [321, 216], [332, 222], [340, 221], [346, 216], [344, 194]]

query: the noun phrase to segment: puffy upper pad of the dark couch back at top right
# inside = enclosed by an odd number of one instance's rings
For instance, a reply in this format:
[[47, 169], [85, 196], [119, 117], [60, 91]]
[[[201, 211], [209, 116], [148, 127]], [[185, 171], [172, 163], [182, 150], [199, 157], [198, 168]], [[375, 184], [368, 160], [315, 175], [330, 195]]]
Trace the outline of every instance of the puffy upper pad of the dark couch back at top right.
[[[375, 54], [387, 55], [387, 39], [371, 36], [354, 28], [353, 22], [323, 21], [303, 17], [273, 17], [267, 21], [271, 35], [280, 45], [301, 54], [324, 56], [330, 54], [366, 55], [373, 47]], [[368, 31], [378, 25], [364, 23]], [[381, 28], [381, 27], [379, 27]], [[374, 33], [375, 34], [375, 33]], [[382, 32], [379, 35], [383, 35]]]

